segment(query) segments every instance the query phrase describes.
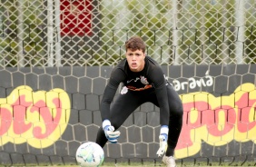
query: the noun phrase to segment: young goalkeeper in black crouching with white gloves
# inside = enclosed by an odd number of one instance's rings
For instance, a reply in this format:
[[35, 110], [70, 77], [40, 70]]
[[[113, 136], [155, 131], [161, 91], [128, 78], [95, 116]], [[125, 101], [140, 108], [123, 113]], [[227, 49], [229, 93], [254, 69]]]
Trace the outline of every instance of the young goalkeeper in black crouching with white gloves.
[[[165, 153], [162, 162], [167, 167], [175, 167], [173, 155], [182, 130], [182, 101], [166, 81], [162, 67], [145, 55], [146, 45], [141, 37], [130, 38], [125, 48], [126, 58], [113, 68], [103, 93], [100, 106], [103, 124], [96, 143], [103, 147], [107, 141], [117, 142], [120, 132], [115, 130], [137, 107], [150, 102], [160, 108], [160, 148], [156, 153], [158, 156]], [[120, 83], [123, 83], [123, 89], [113, 101]]]

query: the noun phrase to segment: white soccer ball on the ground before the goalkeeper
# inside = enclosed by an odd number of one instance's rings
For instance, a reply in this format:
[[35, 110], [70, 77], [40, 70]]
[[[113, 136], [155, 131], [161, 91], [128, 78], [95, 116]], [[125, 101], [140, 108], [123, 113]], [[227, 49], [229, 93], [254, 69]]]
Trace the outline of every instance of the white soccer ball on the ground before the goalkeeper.
[[75, 158], [81, 167], [98, 167], [104, 160], [103, 148], [95, 142], [84, 142], [78, 147]]

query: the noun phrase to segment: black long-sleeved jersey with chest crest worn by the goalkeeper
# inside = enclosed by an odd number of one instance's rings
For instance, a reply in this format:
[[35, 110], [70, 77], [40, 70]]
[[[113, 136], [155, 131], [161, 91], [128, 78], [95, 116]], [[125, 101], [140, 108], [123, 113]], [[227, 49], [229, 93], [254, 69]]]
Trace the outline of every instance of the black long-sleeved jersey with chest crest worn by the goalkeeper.
[[[144, 61], [145, 65], [141, 72], [132, 72], [126, 58], [113, 68], [109, 82], [104, 90], [100, 108], [103, 120], [110, 120], [110, 105], [113, 102], [113, 97], [119, 84], [123, 83], [124, 89], [127, 88], [126, 91], [131, 91], [134, 95], [139, 93], [143, 97], [147, 93], [155, 93], [160, 108], [160, 123], [168, 124], [167, 81], [162, 67], [149, 56], [145, 56]], [[125, 94], [125, 90], [121, 93]], [[122, 111], [120, 113], [122, 114]]]

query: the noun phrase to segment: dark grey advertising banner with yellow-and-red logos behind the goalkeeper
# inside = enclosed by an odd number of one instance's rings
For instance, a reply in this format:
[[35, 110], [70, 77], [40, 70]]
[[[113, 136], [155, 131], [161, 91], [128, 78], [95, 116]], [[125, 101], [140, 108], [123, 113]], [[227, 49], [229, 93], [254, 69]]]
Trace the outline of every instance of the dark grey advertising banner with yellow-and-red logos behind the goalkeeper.
[[[0, 161], [75, 162], [102, 124], [99, 105], [113, 67], [5, 68], [0, 71]], [[255, 155], [256, 65], [162, 66], [183, 103], [175, 156]], [[145, 103], [120, 128], [108, 158], [157, 159], [159, 110]], [[172, 132], [170, 132], [172, 133]], [[55, 158], [55, 157], [59, 158]]]

